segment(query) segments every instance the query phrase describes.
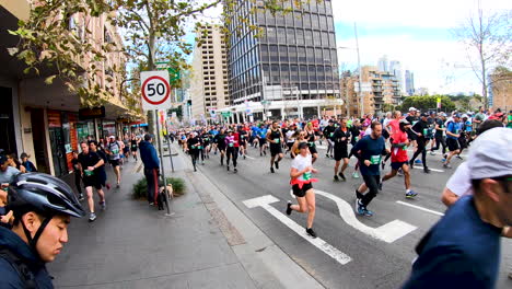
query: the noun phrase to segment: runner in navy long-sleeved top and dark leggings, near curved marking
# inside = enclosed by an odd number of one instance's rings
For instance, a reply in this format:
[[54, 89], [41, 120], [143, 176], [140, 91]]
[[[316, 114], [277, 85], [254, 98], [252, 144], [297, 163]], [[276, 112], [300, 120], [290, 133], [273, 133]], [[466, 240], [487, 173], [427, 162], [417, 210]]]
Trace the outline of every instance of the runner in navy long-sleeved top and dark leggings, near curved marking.
[[[353, 154], [359, 159], [361, 174], [364, 180], [364, 184], [356, 189], [356, 212], [368, 217], [373, 216], [373, 212], [368, 209], [368, 205], [379, 193], [382, 155], [389, 153], [382, 137], [381, 123], [373, 122], [371, 129], [372, 134], [358, 141], [352, 148]], [[363, 194], [366, 187], [370, 192]]]

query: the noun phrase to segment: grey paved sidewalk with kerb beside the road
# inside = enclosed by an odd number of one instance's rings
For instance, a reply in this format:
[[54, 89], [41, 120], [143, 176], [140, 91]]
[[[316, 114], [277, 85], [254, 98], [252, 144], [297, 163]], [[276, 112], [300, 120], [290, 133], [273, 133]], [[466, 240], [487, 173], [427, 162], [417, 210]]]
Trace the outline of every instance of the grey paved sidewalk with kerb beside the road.
[[131, 160], [121, 187], [105, 190], [107, 209], [96, 209], [96, 221], [72, 220], [69, 243], [48, 264], [57, 288], [322, 288], [179, 154], [173, 174], [164, 159], [166, 176], [187, 187], [171, 201], [174, 215], [131, 198], [143, 177]]

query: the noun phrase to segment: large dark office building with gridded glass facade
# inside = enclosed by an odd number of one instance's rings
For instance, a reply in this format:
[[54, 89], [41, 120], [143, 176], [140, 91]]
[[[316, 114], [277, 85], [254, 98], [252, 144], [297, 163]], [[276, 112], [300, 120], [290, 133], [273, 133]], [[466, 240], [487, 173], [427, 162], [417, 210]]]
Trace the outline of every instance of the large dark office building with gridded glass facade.
[[339, 99], [331, 1], [313, 0], [301, 8], [294, 2], [283, 1], [283, 8], [291, 12], [272, 14], [252, 1], [240, 1], [229, 15], [232, 104]]

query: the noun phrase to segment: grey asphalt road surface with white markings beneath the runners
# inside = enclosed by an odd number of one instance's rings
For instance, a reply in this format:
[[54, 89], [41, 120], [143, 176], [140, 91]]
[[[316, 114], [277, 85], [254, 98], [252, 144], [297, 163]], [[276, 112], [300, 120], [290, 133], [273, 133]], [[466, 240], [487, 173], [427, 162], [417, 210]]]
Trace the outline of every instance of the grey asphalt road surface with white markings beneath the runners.
[[[324, 193], [316, 195], [313, 226], [318, 235], [316, 241], [319, 240], [316, 243], [305, 238], [303, 228], [296, 229], [305, 227], [305, 215], [284, 215], [287, 200], [292, 199], [290, 157], [281, 161], [275, 174], [269, 171], [269, 153], [259, 157], [259, 151], [251, 147], [247, 159], [238, 158], [237, 174], [226, 172], [225, 165], [220, 165], [219, 155], [213, 153], [198, 169], [326, 288], [399, 288], [409, 276], [416, 244], [445, 210], [440, 194], [462, 161], [453, 160], [454, 169], [444, 170], [441, 155], [428, 155], [429, 167], [435, 171], [424, 174], [421, 165], [412, 170], [412, 189], [419, 194], [415, 199], [405, 198], [404, 180], [396, 176], [384, 183], [383, 190], [369, 206], [375, 215], [359, 217], [353, 213], [354, 189], [362, 178], [351, 177], [356, 160], [351, 159], [346, 171], [347, 182], [334, 182], [335, 161], [325, 157], [325, 147], [319, 146], [318, 151], [319, 159], [314, 166], [319, 171], [315, 176], [319, 182], [314, 187]], [[384, 171], [388, 170], [387, 165]], [[267, 197], [259, 198], [264, 196]], [[259, 199], [244, 203], [255, 198]], [[265, 200], [270, 204], [265, 205]], [[512, 288], [512, 281], [507, 278], [512, 267], [512, 242], [503, 239], [502, 245], [498, 288]]]

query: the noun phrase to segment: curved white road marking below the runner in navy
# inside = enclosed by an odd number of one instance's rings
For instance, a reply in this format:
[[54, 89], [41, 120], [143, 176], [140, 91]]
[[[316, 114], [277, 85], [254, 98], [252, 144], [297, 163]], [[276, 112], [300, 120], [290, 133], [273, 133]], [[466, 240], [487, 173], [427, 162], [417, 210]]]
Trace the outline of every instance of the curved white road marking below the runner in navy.
[[349, 226], [351, 226], [352, 228], [374, 238], [374, 239], [377, 239], [377, 240], [381, 240], [381, 241], [384, 241], [386, 243], [393, 243], [395, 242], [396, 240], [405, 236], [406, 234], [412, 232], [414, 230], [418, 229], [417, 227], [412, 226], [412, 224], [409, 224], [409, 223], [406, 223], [404, 221], [400, 221], [400, 220], [394, 220], [394, 221], [391, 221], [388, 223], [385, 223], [379, 228], [371, 228], [371, 227], [368, 227], [365, 224], [363, 224], [362, 222], [360, 222], [357, 218], [356, 218], [356, 213], [353, 212], [353, 209], [352, 209], [352, 206], [350, 206], [346, 200], [333, 195], [333, 194], [329, 194], [329, 193], [326, 193], [326, 192], [322, 192], [322, 190], [318, 190], [318, 189], [315, 189], [315, 193], [317, 195], [321, 195], [321, 196], [324, 196], [326, 198], [329, 198], [331, 200], [334, 200], [336, 203], [336, 205], [338, 206], [338, 210], [339, 210], [339, 216], [341, 217], [341, 219], [344, 219], [344, 221], [346, 223], [348, 223]]

